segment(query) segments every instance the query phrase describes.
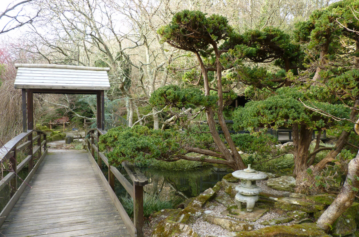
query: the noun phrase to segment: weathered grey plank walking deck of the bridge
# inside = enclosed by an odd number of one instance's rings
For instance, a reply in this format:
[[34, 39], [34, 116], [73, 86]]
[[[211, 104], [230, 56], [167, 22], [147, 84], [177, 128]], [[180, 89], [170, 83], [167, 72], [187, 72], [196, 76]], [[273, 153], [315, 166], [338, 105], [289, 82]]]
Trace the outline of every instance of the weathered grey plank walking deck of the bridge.
[[7, 237], [129, 237], [89, 159], [79, 151], [48, 154], [0, 233]]

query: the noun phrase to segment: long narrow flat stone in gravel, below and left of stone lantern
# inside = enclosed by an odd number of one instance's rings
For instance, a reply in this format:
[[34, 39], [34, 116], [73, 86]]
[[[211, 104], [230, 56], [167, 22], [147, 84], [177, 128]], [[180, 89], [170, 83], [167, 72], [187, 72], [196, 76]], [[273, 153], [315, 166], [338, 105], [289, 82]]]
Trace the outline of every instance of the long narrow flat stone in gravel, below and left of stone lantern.
[[219, 218], [219, 217], [215, 217], [215, 216], [210, 216], [208, 214], [204, 214], [203, 220], [208, 223], [216, 224], [216, 225], [218, 225], [224, 229], [227, 229], [229, 231], [237, 232], [237, 231], [252, 231], [253, 230], [252, 224], [249, 224], [244, 221], [233, 220], [230, 218]]

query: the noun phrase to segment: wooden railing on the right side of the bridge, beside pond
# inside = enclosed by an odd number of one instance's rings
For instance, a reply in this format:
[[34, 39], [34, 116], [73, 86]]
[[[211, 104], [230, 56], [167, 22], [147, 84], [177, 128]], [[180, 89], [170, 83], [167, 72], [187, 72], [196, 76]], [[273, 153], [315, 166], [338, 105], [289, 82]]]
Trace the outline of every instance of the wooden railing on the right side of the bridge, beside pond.
[[[116, 167], [108, 164], [107, 157], [100, 151], [98, 151], [98, 140], [101, 135], [106, 134], [106, 131], [99, 129], [91, 129], [88, 131], [88, 144], [87, 150], [88, 153], [93, 158], [93, 163], [95, 163], [95, 153], [97, 153], [97, 169], [99, 170], [100, 177], [104, 182], [107, 191], [115, 204], [118, 213], [125, 223], [127, 230], [130, 232], [131, 237], [143, 237], [143, 187], [148, 183], [147, 178], [144, 174], [137, 168], [137, 166], [123, 162], [122, 166], [125, 168], [127, 174], [132, 180], [132, 184], [117, 170]], [[106, 164], [108, 168], [108, 180], [102, 173], [102, 161]], [[125, 209], [123, 208], [120, 200], [118, 200], [115, 194], [115, 178], [122, 184], [126, 191], [131, 195], [134, 200], [134, 218], [133, 223], [131, 218], [127, 215]]]

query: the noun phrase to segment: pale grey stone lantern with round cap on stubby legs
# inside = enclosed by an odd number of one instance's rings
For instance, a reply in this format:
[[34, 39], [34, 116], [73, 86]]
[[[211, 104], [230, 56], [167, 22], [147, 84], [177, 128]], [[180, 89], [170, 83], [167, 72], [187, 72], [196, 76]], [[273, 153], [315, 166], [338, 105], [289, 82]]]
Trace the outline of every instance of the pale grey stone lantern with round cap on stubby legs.
[[268, 175], [252, 169], [251, 165], [248, 165], [247, 169], [234, 171], [232, 175], [241, 179], [241, 185], [236, 187], [238, 193], [234, 197], [234, 201], [239, 209], [242, 208], [242, 202], [247, 203], [247, 212], [251, 212], [255, 202], [259, 199], [258, 194], [262, 191], [257, 186], [256, 180], [266, 179]]

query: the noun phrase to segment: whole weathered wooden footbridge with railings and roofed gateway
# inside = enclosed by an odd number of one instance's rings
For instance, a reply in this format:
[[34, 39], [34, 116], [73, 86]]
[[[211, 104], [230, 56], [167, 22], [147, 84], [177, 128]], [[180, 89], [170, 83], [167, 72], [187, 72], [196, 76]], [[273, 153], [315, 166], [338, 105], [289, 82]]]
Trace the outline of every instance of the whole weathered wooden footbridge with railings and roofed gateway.
[[[97, 141], [106, 134], [104, 90], [109, 88], [107, 73], [101, 71], [108, 68], [15, 66], [18, 67], [15, 87], [22, 88], [23, 96], [23, 132], [0, 149], [0, 165], [7, 170], [0, 177], [0, 192], [9, 195], [0, 197], [9, 198], [0, 212], [0, 236], [143, 237], [143, 186], [147, 179], [136, 166], [122, 163], [131, 184], [98, 151]], [[82, 79], [83, 85], [70, 81], [81, 77], [87, 78]], [[33, 93], [97, 95], [97, 129], [88, 132], [87, 153], [71, 150], [48, 153], [46, 133], [33, 129]], [[108, 169], [107, 179], [102, 173], [103, 163]], [[28, 175], [19, 179], [19, 172], [26, 167]], [[115, 178], [134, 200], [133, 221], [114, 192]], [[9, 192], [4, 192], [6, 188]]]

